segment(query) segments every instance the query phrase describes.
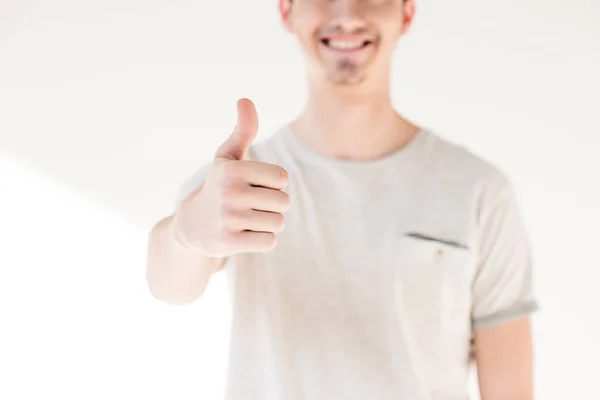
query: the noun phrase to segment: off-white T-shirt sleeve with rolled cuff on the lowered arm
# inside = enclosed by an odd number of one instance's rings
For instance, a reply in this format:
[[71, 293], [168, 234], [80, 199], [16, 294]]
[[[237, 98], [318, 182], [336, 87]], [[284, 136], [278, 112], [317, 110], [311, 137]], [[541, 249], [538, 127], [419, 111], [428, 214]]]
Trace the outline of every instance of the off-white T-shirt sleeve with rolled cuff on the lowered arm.
[[501, 324], [538, 310], [533, 265], [513, 186], [484, 201], [478, 223], [478, 265], [473, 282], [473, 330]]

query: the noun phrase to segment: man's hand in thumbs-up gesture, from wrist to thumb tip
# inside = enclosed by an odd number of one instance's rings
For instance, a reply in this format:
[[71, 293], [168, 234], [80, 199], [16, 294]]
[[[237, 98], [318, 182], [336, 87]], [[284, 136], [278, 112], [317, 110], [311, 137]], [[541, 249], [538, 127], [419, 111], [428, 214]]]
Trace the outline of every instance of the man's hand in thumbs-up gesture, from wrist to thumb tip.
[[237, 103], [238, 121], [216, 152], [204, 184], [175, 213], [175, 235], [187, 247], [209, 257], [266, 252], [284, 228], [290, 198], [285, 169], [245, 155], [258, 132], [252, 101]]

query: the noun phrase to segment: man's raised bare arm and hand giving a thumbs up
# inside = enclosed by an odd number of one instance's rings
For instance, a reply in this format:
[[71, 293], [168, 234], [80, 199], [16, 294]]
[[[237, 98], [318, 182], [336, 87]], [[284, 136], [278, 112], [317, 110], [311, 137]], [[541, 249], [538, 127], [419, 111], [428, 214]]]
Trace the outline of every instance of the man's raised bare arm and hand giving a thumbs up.
[[251, 101], [238, 101], [235, 131], [184, 185], [175, 213], [152, 229], [146, 277], [156, 298], [190, 303], [227, 257], [275, 246], [289, 207], [288, 176], [279, 166], [244, 160], [257, 118]]

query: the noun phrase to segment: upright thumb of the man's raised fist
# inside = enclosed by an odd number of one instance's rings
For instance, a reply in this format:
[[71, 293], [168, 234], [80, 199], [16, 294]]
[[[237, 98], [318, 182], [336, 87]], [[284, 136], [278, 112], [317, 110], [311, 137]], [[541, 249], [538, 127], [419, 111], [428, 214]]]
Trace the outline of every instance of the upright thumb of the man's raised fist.
[[237, 125], [231, 136], [217, 150], [216, 158], [243, 160], [258, 133], [258, 115], [252, 100], [238, 100], [237, 109]]

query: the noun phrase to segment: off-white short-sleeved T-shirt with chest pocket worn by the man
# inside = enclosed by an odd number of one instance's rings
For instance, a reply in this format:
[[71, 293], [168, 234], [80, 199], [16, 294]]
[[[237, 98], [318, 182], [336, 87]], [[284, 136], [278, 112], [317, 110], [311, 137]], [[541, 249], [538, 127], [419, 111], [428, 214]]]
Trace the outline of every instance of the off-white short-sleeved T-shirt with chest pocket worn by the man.
[[345, 161], [284, 127], [248, 155], [287, 169], [292, 205], [273, 251], [224, 266], [228, 400], [466, 399], [472, 333], [537, 309], [510, 182], [464, 148], [422, 130]]

